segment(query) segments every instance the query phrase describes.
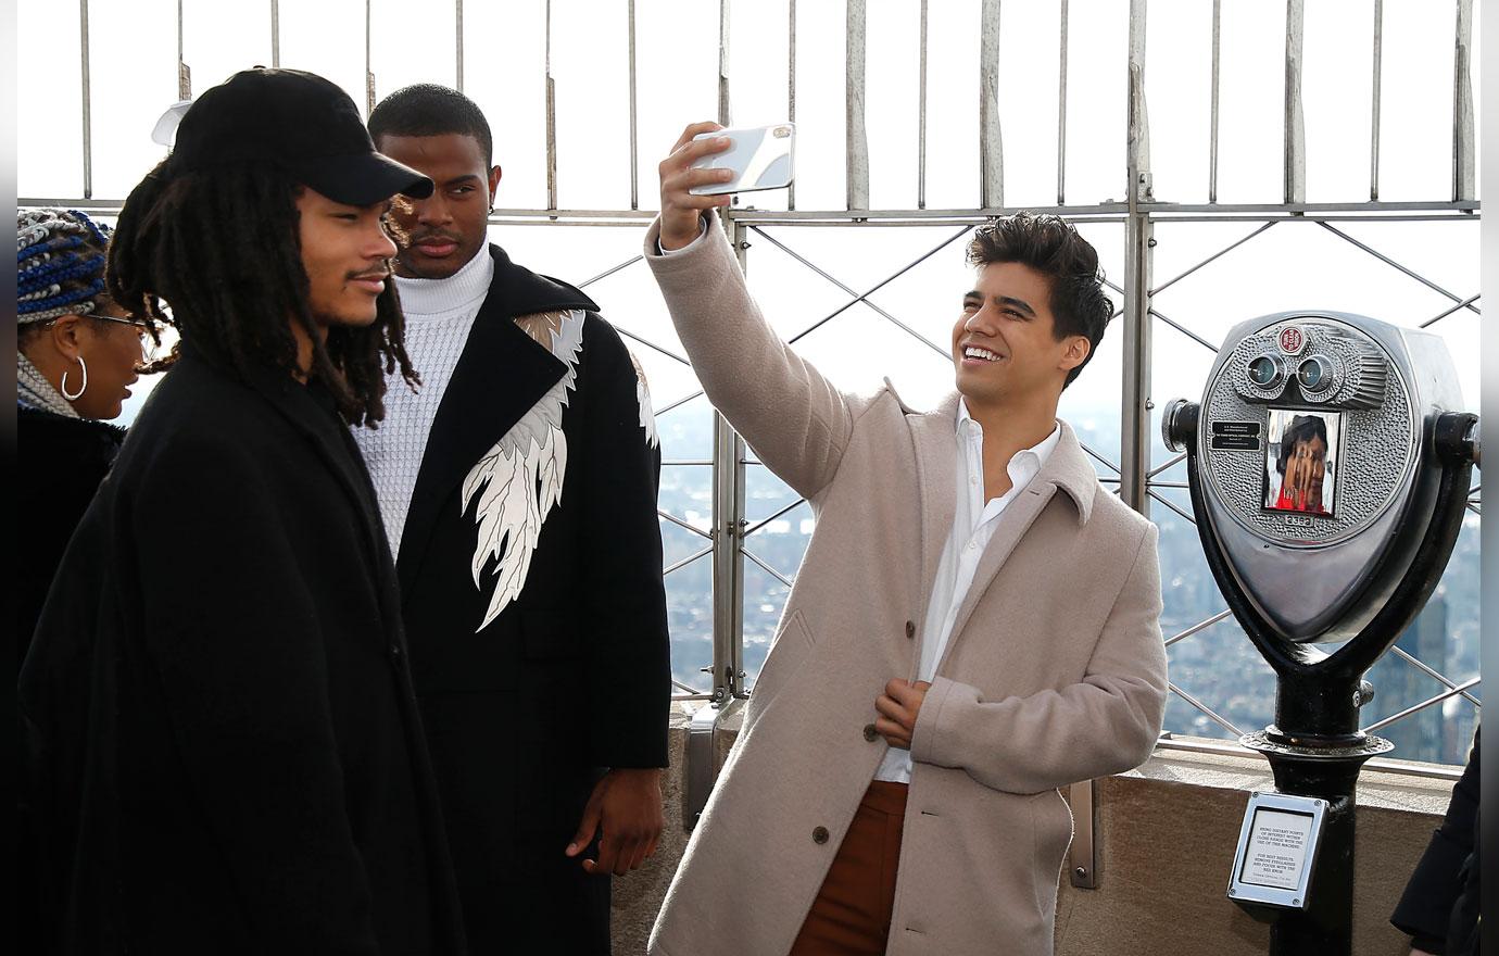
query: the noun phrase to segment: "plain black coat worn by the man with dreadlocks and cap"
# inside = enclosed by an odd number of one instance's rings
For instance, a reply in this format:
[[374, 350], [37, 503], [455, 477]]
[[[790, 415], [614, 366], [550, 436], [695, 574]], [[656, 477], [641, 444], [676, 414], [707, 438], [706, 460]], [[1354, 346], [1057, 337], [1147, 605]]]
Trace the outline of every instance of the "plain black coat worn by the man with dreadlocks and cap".
[[21, 673], [67, 953], [456, 953], [394, 568], [319, 385], [189, 352]]

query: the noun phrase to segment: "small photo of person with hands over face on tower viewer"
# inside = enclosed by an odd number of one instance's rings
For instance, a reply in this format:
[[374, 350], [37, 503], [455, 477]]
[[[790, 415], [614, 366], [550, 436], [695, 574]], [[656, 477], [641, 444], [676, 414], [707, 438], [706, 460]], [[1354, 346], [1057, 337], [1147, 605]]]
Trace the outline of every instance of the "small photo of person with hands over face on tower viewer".
[[1333, 515], [1342, 412], [1270, 409], [1265, 508]]

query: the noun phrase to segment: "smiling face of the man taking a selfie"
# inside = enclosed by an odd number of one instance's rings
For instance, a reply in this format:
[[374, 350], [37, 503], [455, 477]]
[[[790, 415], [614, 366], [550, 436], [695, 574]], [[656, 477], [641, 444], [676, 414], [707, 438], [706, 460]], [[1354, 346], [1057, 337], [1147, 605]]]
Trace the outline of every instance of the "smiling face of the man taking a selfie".
[[1055, 336], [1051, 282], [1019, 262], [989, 262], [952, 330], [958, 391], [970, 406], [1061, 396], [1088, 355], [1085, 336]]

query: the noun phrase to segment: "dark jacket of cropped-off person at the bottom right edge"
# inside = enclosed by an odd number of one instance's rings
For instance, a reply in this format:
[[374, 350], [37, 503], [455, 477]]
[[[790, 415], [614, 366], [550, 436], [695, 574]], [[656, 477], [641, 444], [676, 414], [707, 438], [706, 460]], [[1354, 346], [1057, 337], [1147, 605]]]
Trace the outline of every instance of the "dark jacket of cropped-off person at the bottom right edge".
[[1408, 934], [1412, 946], [1427, 953], [1468, 956], [1478, 953], [1478, 733], [1463, 776], [1453, 788], [1442, 826], [1432, 835], [1426, 853], [1411, 874], [1390, 922]]

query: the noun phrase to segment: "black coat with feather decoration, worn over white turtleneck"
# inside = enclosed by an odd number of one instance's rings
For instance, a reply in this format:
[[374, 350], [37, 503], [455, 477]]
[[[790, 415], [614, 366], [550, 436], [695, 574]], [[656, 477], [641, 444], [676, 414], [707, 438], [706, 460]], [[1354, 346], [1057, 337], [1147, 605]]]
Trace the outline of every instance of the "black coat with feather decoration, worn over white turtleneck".
[[[667, 763], [661, 456], [654, 423], [649, 435], [642, 427], [631, 357], [597, 306], [499, 247], [490, 255], [495, 279], [442, 396], [400, 539], [412, 677], [474, 952], [607, 953], [609, 878], [564, 850], [606, 769]], [[477, 517], [504, 475], [484, 488], [466, 479], [507, 435], [514, 444], [546, 432], [528, 414], [552, 402], [568, 366], [516, 318], [564, 310], [586, 316], [561, 417], [561, 502], [538, 509], [519, 596], [481, 626], [501, 562], [487, 553], [475, 574]], [[529, 439], [519, 447], [535, 453]], [[522, 529], [504, 526], [525, 547]]]

